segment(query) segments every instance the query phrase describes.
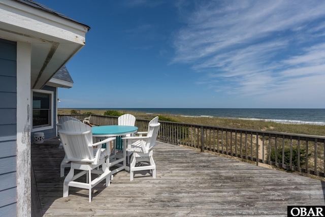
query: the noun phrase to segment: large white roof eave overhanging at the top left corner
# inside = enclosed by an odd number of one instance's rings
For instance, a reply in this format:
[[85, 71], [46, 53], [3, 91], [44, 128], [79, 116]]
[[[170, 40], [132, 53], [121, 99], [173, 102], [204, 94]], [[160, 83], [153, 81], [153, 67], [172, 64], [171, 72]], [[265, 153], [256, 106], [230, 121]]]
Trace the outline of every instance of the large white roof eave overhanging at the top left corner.
[[0, 2], [0, 38], [31, 45], [31, 88], [41, 89], [84, 45], [89, 27], [18, 1]]

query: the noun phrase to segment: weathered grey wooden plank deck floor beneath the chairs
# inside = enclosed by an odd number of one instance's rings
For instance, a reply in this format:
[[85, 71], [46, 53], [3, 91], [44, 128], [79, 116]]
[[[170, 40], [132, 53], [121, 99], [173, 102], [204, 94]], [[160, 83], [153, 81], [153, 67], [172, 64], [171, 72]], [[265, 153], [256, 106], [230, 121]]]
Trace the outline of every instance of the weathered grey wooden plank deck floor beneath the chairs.
[[155, 179], [138, 172], [129, 181], [120, 171], [109, 187], [94, 188], [91, 203], [72, 187], [62, 198], [58, 144], [31, 146], [32, 216], [286, 216], [288, 205], [325, 205], [325, 182], [163, 142], [154, 149]]

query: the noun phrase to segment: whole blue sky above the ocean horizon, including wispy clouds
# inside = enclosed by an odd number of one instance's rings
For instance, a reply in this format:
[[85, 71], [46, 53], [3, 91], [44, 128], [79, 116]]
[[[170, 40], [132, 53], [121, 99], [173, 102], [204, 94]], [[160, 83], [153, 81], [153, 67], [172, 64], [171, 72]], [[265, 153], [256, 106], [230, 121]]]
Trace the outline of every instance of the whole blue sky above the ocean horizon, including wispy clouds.
[[37, 1], [91, 27], [60, 108], [325, 108], [325, 1]]

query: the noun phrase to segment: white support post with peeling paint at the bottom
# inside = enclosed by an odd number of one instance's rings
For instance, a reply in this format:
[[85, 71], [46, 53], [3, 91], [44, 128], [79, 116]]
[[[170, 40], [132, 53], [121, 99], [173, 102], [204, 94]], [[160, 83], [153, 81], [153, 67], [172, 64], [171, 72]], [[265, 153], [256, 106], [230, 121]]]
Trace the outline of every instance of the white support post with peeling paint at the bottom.
[[17, 216], [31, 216], [30, 44], [17, 42]]

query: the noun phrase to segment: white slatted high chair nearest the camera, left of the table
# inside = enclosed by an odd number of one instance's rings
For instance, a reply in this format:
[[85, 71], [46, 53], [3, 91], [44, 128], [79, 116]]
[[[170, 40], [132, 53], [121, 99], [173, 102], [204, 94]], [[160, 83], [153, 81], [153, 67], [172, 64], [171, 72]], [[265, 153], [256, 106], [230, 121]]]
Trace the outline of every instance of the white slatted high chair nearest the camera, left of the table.
[[[68, 197], [69, 187], [76, 187], [89, 190], [89, 202], [91, 202], [92, 188], [106, 179], [106, 186], [110, 184], [111, 171], [109, 165], [109, 148], [102, 148], [102, 144], [115, 140], [114, 137], [103, 141], [92, 143], [92, 130], [88, 125], [74, 120], [62, 123], [59, 136], [66, 152], [67, 160], [71, 162], [71, 169], [63, 182], [63, 197]], [[75, 174], [75, 169], [82, 170]], [[91, 174], [99, 176], [91, 179]], [[85, 175], [87, 181], [75, 181]]]

